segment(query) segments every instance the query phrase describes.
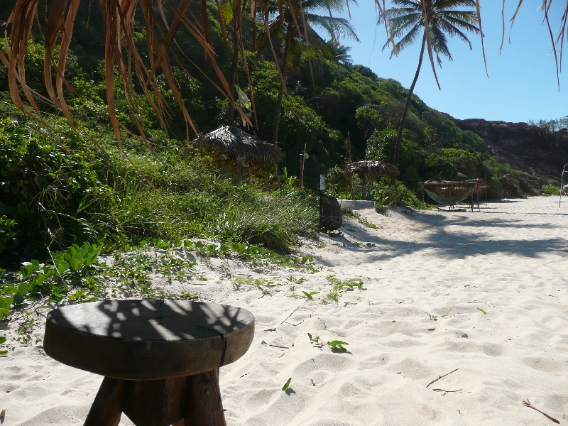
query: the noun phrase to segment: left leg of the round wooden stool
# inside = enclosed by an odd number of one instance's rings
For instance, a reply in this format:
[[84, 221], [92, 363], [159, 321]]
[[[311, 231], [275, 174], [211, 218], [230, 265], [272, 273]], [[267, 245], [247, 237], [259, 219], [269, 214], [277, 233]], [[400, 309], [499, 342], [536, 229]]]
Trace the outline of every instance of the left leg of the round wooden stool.
[[84, 421], [84, 426], [118, 426], [122, 414], [124, 381], [105, 377], [93, 405]]

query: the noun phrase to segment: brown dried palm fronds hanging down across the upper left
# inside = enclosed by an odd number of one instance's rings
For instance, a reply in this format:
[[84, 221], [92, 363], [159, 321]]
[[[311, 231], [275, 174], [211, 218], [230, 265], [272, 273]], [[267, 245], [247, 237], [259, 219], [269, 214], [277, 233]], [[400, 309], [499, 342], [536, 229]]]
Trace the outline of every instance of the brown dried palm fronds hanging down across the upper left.
[[[114, 107], [114, 79], [115, 74], [119, 75], [121, 84], [124, 89], [126, 102], [131, 108], [133, 122], [136, 126], [138, 134], [146, 143], [148, 149], [151, 149], [150, 143], [146, 140], [146, 136], [141, 128], [136, 114], [134, 114], [134, 104], [136, 103], [136, 91], [134, 89], [133, 75], [136, 76], [140, 84], [143, 94], [148, 99], [153, 111], [155, 112], [161, 126], [165, 130], [165, 111], [166, 104], [160, 92], [160, 87], [156, 81], [156, 72], [161, 70], [168, 83], [169, 89], [172, 90], [175, 101], [182, 111], [187, 126], [187, 138], [189, 139], [189, 129], [191, 128], [196, 134], [197, 129], [192, 122], [190, 114], [182, 102], [175, 77], [170, 65], [168, 50], [172, 43], [175, 43], [175, 35], [181, 27], [185, 27], [192, 35], [197, 43], [199, 43], [204, 51], [205, 58], [212, 63], [212, 68], [217, 75], [219, 84], [215, 84], [222, 94], [234, 104], [233, 90], [229, 87], [224, 75], [219, 69], [216, 62], [216, 53], [212, 48], [209, 40], [209, 17], [207, 15], [207, 0], [198, 0], [200, 6], [200, 17], [197, 18], [190, 11], [191, 0], [167, 0], [168, 6], [174, 13], [171, 22], [165, 18], [163, 5], [161, 0], [99, 0], [99, 6], [102, 10], [105, 26], [105, 83], [107, 87], [107, 104], [109, 107], [109, 116], [114, 129], [117, 141], [121, 144], [120, 129], [121, 124], [116, 117], [116, 109]], [[219, 21], [221, 23], [222, 35], [226, 45], [225, 4], [219, 4], [217, 1], [217, 9], [219, 11]], [[283, 1], [288, 0], [252, 0], [250, 4], [251, 17], [256, 18], [260, 13], [265, 27], [268, 26], [269, 16], [268, 8], [271, 1], [275, 1], [280, 11], [283, 10]], [[342, 1], [342, 0], [339, 0]], [[349, 3], [346, 5], [349, 9]], [[384, 11], [380, 0], [375, 0], [379, 13]], [[16, 0], [9, 18], [4, 26], [4, 43], [6, 45], [6, 55], [0, 51], [0, 60], [8, 69], [9, 89], [13, 103], [21, 109], [24, 114], [35, 119], [43, 121], [40, 109], [36, 104], [36, 99], [40, 96], [26, 84], [26, 67], [24, 58], [28, 48], [28, 40], [31, 38], [34, 22], [40, 26], [37, 8], [39, 0]], [[248, 65], [246, 64], [246, 55], [244, 53], [244, 45], [242, 43], [242, 27], [241, 21], [244, 16], [244, 9], [247, 4], [246, 0], [234, 1], [233, 19], [236, 25], [237, 38], [241, 45], [241, 55], [244, 61], [247, 80], [249, 80], [249, 91], [254, 105], [254, 97], [252, 93], [251, 79], [249, 75]], [[77, 9], [80, 6], [80, 0], [45, 0], [45, 9], [49, 10], [46, 17], [45, 28], [39, 28], [40, 33], [45, 38], [45, 60], [44, 75], [45, 89], [51, 99], [51, 102], [61, 109], [67, 117], [70, 126], [74, 128], [75, 121], [70, 114], [65, 97], [63, 87], [70, 89], [70, 85], [65, 80], [65, 66], [67, 52], [69, 50], [70, 41], [73, 37], [73, 26], [77, 16]], [[158, 13], [156, 12], [158, 9]], [[143, 16], [143, 23], [146, 26], [147, 53], [138, 51], [133, 40], [134, 35], [134, 17], [136, 13]], [[295, 14], [292, 11], [293, 15]], [[303, 13], [300, 13], [303, 19]], [[331, 11], [330, 11], [331, 14]], [[297, 19], [294, 16], [297, 27]], [[253, 32], [256, 26], [253, 25]], [[305, 34], [299, 34], [305, 36]], [[387, 32], [388, 35], [388, 32]], [[254, 38], [254, 35], [253, 35]], [[306, 43], [307, 44], [307, 43]], [[59, 47], [59, 58], [53, 60], [53, 52]], [[146, 57], [146, 61], [143, 58]], [[276, 67], [282, 78], [278, 60], [275, 60]], [[311, 65], [311, 64], [310, 64]], [[52, 69], [55, 69], [55, 85], [53, 84]], [[185, 69], [184, 69], [185, 71]], [[186, 71], [187, 72], [187, 71]], [[33, 111], [28, 111], [28, 107], [24, 103], [24, 98]], [[249, 125], [251, 121], [238, 105], [235, 108], [239, 111], [243, 124]], [[43, 124], [46, 124], [43, 121]]]

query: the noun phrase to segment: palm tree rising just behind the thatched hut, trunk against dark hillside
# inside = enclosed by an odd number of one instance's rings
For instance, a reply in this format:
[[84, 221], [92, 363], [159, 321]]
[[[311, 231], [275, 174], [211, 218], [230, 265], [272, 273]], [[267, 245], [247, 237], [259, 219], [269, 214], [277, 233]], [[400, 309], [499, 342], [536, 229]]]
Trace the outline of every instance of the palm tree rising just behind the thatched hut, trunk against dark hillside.
[[[344, 0], [290, 0], [280, 7], [276, 1], [273, 1], [271, 6], [268, 7], [270, 19], [268, 22], [265, 21], [264, 31], [258, 34], [259, 52], [268, 50], [268, 46], [270, 46], [275, 60], [278, 62], [273, 42], [279, 41], [283, 45], [280, 62], [280, 89], [278, 89], [274, 115], [273, 143], [278, 143], [278, 127], [285, 92], [286, 73], [299, 62], [302, 51], [306, 49], [308, 60], [310, 60], [310, 55], [329, 56], [332, 54], [327, 43], [317, 34], [314, 27], [326, 31], [332, 40], [349, 38], [359, 41], [351, 23], [345, 18], [317, 14], [320, 11], [340, 12], [343, 10], [343, 5]], [[311, 67], [310, 62], [310, 69]]]

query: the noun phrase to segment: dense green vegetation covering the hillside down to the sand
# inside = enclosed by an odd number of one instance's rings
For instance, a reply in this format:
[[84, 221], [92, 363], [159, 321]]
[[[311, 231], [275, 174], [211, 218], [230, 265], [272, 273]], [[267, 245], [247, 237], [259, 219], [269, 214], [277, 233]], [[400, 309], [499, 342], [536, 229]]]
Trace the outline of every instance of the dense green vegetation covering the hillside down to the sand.
[[[7, 15], [12, 4], [3, 2], [0, 18]], [[216, 6], [210, 6], [209, 12], [214, 15]], [[245, 29], [251, 25], [244, 22]], [[137, 42], [145, 43], [145, 30], [137, 30]], [[231, 40], [224, 47], [221, 28], [214, 20], [210, 31], [212, 44], [220, 53], [219, 66], [228, 75]], [[280, 88], [278, 71], [271, 53], [252, 52], [250, 31], [244, 34], [249, 37], [244, 43], [256, 110], [251, 119], [255, 124], [258, 121], [254, 131], [271, 141]], [[283, 40], [273, 41], [280, 55]], [[183, 31], [177, 45], [182, 51], [173, 50], [173, 63], [178, 64], [175, 77], [197, 129], [207, 132], [226, 124], [229, 102], [207, 77], [210, 63], [202, 53], [196, 54], [199, 46]], [[26, 56], [26, 78], [31, 87], [45, 95], [41, 90], [43, 52], [38, 34]], [[11, 107], [6, 73], [0, 68], [0, 253], [4, 266], [47, 258], [48, 248], [63, 250], [84, 241], [120, 246], [149, 236], [212, 236], [288, 251], [295, 244], [295, 236], [311, 234], [317, 223], [315, 198], [310, 190], [299, 190], [290, 178], [299, 175], [298, 158], [304, 144], [310, 154], [305, 170], [307, 188], [315, 189], [318, 175], [323, 173], [329, 173], [330, 178], [334, 175], [332, 182], [344, 182], [337, 174], [341, 175], [346, 162], [348, 134], [354, 160], [390, 162], [395, 129], [408, 95], [400, 83], [381, 79], [367, 67], [351, 65], [346, 58], [342, 63], [332, 57], [312, 58], [312, 80], [305, 53], [298, 53], [288, 69], [288, 96], [282, 99], [278, 142], [285, 160], [271, 180], [253, 179], [234, 185], [212, 170], [207, 157], [185, 149], [185, 122], [175, 108], [171, 91], [165, 92], [169, 134], [160, 129], [144, 97], [139, 96], [136, 102], [136, 115], [155, 155], [136, 132], [126, 131], [123, 153], [109, 126], [103, 58], [102, 18], [96, 7], [89, 11], [84, 6], [78, 13], [65, 74], [75, 92], [66, 89], [77, 132], [49, 104], [40, 104], [47, 126], [26, 119]], [[236, 84], [245, 88], [242, 60], [238, 69]], [[158, 81], [163, 82], [163, 76]], [[136, 126], [119, 83], [115, 91], [119, 119], [132, 131]], [[415, 193], [422, 180], [486, 178], [489, 196], [498, 197], [503, 193], [498, 178], [520, 176], [508, 163], [491, 155], [479, 136], [462, 131], [415, 96], [405, 121], [398, 166], [398, 185]], [[512, 195], [523, 190], [531, 188], [508, 188]]]

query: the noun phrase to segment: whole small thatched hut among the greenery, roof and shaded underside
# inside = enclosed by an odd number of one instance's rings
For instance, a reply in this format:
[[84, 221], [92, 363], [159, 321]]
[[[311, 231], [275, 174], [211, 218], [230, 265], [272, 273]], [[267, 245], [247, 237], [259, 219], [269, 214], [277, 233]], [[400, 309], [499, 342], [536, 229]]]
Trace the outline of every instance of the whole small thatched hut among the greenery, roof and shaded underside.
[[222, 126], [191, 141], [193, 146], [212, 153], [212, 165], [237, 180], [251, 174], [263, 175], [284, 158], [273, 143], [261, 141], [237, 126]]

